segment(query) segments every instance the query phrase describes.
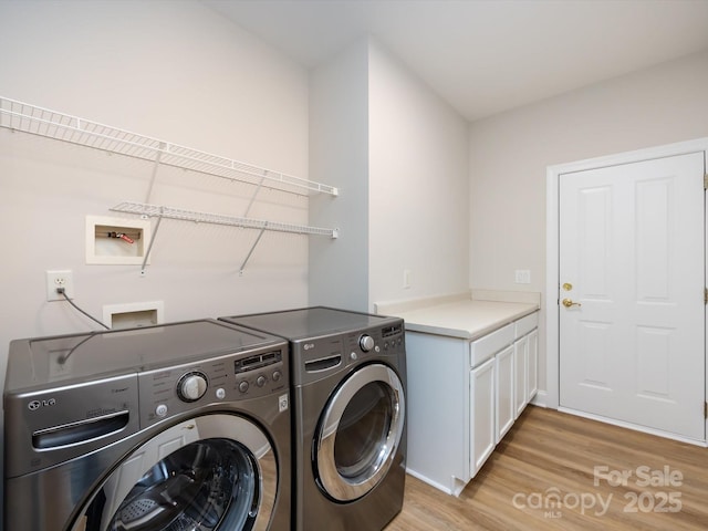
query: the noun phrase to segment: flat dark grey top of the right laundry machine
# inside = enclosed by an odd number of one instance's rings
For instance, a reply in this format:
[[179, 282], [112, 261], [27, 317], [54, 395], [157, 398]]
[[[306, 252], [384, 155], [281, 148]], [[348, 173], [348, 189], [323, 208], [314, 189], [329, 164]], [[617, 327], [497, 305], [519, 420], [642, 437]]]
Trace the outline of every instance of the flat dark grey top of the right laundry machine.
[[400, 322], [397, 317], [313, 306], [283, 312], [220, 317], [229, 323], [280, 335], [291, 341], [333, 333], [355, 332], [372, 326]]

